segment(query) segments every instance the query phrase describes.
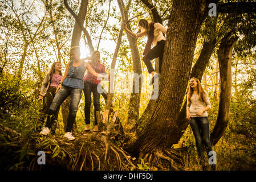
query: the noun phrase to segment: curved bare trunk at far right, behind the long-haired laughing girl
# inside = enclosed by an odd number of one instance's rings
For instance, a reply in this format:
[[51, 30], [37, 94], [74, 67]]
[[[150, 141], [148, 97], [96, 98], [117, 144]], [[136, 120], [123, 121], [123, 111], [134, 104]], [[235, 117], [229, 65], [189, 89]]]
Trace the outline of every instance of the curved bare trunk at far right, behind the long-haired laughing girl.
[[238, 36], [232, 36], [231, 34], [227, 34], [221, 40], [221, 44], [218, 49], [218, 62], [220, 64], [221, 76], [221, 92], [216, 125], [214, 126], [214, 129], [210, 134], [213, 145], [215, 145], [218, 140], [220, 140], [226, 130], [227, 123], [229, 122], [232, 88], [231, 60], [232, 50], [237, 40]]

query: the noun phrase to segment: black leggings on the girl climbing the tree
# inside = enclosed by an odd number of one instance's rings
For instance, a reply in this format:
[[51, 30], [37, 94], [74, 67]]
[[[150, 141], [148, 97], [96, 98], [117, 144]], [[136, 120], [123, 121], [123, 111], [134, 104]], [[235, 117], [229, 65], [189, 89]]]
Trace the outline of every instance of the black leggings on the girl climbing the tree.
[[162, 57], [164, 56], [164, 45], [165, 40], [157, 42], [156, 46], [153, 47], [146, 56], [143, 57], [143, 61], [148, 68], [148, 73], [154, 72], [155, 69], [152, 67], [151, 60], [159, 57], [159, 73], [161, 73]]

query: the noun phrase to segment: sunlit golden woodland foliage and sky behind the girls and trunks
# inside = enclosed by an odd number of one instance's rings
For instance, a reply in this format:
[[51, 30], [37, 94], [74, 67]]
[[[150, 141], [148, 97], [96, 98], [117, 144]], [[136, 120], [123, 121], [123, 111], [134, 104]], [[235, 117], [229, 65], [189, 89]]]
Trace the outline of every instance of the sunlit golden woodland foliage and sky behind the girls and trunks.
[[[42, 101], [38, 100], [40, 86], [44, 76], [54, 61], [60, 61], [63, 73], [70, 60], [69, 49], [72, 47], [72, 32], [75, 18], [67, 10], [62, 0], [22, 1], [1, 0], [0, 6], [0, 168], [1, 170], [28, 170], [35, 165], [35, 148], [30, 147], [33, 140], [35, 146], [46, 148], [55, 142], [54, 139], [42, 139], [38, 135], [38, 117]], [[84, 1], [68, 1], [76, 14]], [[243, 2], [243, 1], [221, 1]], [[247, 2], [247, 1], [246, 1]], [[251, 2], [251, 1], [249, 1]], [[252, 1], [253, 2], [253, 1]], [[137, 31], [137, 22], [141, 18], [154, 20], [160, 17], [165, 27], [172, 10], [172, 1], [124, 1], [125, 9], [129, 9], [131, 29]], [[155, 10], [152, 7], [155, 6]], [[110, 72], [113, 57], [116, 57], [115, 75], [128, 77], [133, 73], [135, 63], [132, 59], [131, 48], [125, 32], [123, 33], [117, 55], [114, 54], [121, 23], [123, 22], [119, 6], [116, 1], [102, 0], [87, 1], [87, 13], [84, 18], [84, 30], [79, 38], [82, 56], [86, 57], [93, 49], [101, 53], [102, 63], [106, 71]], [[144, 14], [145, 13], [145, 14]], [[156, 13], [158, 15], [156, 15]], [[218, 9], [217, 9], [218, 13]], [[128, 19], [129, 19], [128, 18]], [[78, 25], [76, 25], [78, 26]], [[212, 109], [209, 110], [210, 131], [213, 130], [218, 117], [220, 104], [220, 67], [218, 63], [218, 48], [225, 35], [237, 36], [237, 42], [232, 50], [231, 61], [231, 102], [229, 121], [224, 135], [214, 146], [217, 152], [218, 170], [255, 170], [256, 169], [256, 21], [253, 13], [239, 13], [233, 9], [229, 13], [207, 16], [202, 23], [197, 36], [196, 48], [193, 55], [192, 67], [200, 58], [202, 51], [208, 53], [207, 63], [201, 82], [209, 93]], [[91, 39], [91, 40], [90, 40]], [[74, 39], [73, 39], [74, 40]], [[142, 61], [142, 52], [146, 39], [138, 39], [137, 51], [140, 55], [141, 72], [147, 75], [147, 69]], [[203, 49], [206, 43], [212, 48]], [[209, 45], [209, 46], [211, 46]], [[153, 61], [154, 62], [154, 61]], [[160, 80], [161, 81], [161, 80]], [[161, 83], [160, 83], [161, 84]], [[124, 128], [125, 137], [115, 140], [116, 146], [125, 147], [126, 138], [135, 137], [144, 128], [145, 122], [136, 122], [146, 110], [151, 93], [141, 93], [140, 99], [132, 106], [132, 94], [118, 92], [112, 97], [112, 109], [118, 110], [118, 118]], [[186, 97], [184, 96], [184, 102]], [[105, 99], [100, 98], [101, 117], [105, 110]], [[62, 107], [63, 108], [63, 107]], [[80, 101], [74, 133], [84, 130], [84, 96]], [[94, 117], [94, 107], [91, 106], [91, 121]], [[63, 109], [62, 109], [63, 110]], [[64, 134], [63, 112], [60, 112], [55, 137]], [[111, 114], [111, 117], [113, 115]], [[64, 116], [65, 117], [65, 116]], [[111, 119], [110, 119], [111, 121]], [[136, 125], [136, 130], [132, 129]], [[23, 136], [23, 141], [13, 140], [13, 136], [6, 134], [3, 128]], [[43, 142], [44, 141], [44, 142]], [[22, 143], [22, 146], [19, 144]], [[52, 158], [60, 156], [66, 158], [65, 150], [61, 147], [51, 148]], [[82, 146], [83, 147], [83, 146]], [[172, 148], [185, 147], [182, 154], [184, 170], [200, 170], [192, 130], [188, 126], [183, 131], [178, 143]], [[17, 150], [20, 148], [20, 150]], [[16, 151], [15, 151], [16, 150]], [[142, 166], [141, 166], [141, 165]], [[137, 169], [157, 170], [157, 167], [134, 160]]]

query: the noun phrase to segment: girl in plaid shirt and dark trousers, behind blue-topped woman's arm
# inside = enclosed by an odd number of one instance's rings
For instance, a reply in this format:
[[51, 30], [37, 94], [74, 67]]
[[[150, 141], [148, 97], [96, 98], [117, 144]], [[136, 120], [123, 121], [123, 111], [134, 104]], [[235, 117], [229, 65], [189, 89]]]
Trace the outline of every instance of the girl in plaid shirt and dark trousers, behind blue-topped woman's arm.
[[[88, 58], [91, 61], [89, 64], [92, 69], [95, 70], [96, 73], [106, 73], [105, 66], [100, 63], [100, 52], [94, 51], [91, 53], [91, 56]], [[84, 97], [86, 101], [86, 105], [84, 106], [84, 113], [86, 116], [86, 131], [90, 131], [90, 112], [91, 112], [91, 104], [92, 98], [91, 93], [94, 95], [94, 131], [98, 131], [97, 127], [97, 117], [96, 111], [100, 111], [100, 93], [97, 92], [97, 85], [100, 84], [101, 80], [97, 80], [97, 77], [93, 76], [90, 72], [87, 72], [84, 77]]]

